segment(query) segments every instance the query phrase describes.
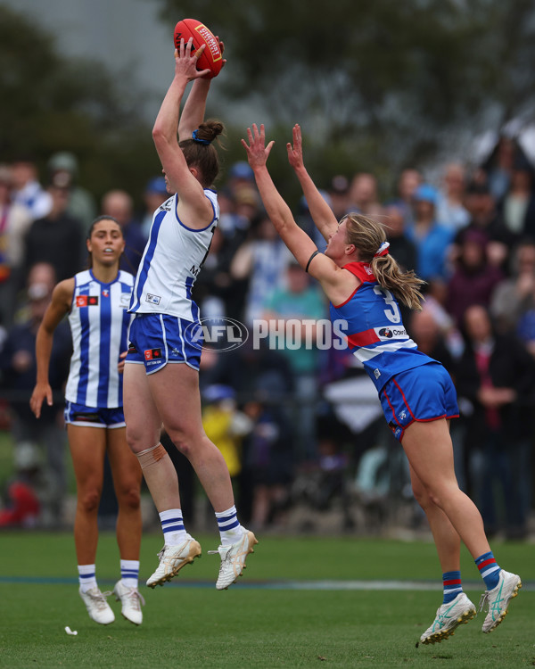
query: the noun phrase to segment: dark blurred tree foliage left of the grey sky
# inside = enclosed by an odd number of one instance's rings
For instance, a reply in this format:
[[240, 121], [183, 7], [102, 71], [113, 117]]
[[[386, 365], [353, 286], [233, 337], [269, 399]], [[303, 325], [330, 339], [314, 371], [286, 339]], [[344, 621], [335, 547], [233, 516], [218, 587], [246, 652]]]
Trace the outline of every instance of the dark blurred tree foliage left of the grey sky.
[[141, 193], [160, 164], [140, 97], [128, 78], [62, 57], [37, 22], [0, 6], [0, 162], [31, 156], [44, 176], [48, 158], [68, 150], [95, 195], [111, 187]]

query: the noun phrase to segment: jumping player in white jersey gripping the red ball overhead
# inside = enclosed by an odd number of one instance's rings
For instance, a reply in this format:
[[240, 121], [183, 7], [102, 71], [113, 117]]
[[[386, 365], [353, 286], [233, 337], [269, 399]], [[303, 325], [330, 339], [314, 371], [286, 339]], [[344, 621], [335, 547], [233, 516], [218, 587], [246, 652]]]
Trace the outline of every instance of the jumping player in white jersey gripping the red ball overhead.
[[[218, 200], [210, 190], [218, 176], [218, 153], [211, 142], [223, 131], [218, 121], [203, 122], [210, 79], [201, 78], [208, 70], [196, 69], [201, 54], [202, 48], [192, 55], [191, 40], [182, 40], [175, 77], [152, 130], [173, 196], [154, 212], [132, 295], [125, 418], [128, 444], [139, 458], [165, 539], [147, 585], [163, 585], [201, 555], [201, 546], [185, 530], [177, 473], [160, 442], [163, 424], [215, 509], [221, 536], [213, 551], [221, 558], [216, 588], [224, 590], [242, 574], [257, 541], [238, 521], [225, 460], [201, 419], [201, 354], [198, 342], [193, 345], [199, 312], [191, 292], [218, 223]], [[180, 117], [182, 96], [192, 80]]]

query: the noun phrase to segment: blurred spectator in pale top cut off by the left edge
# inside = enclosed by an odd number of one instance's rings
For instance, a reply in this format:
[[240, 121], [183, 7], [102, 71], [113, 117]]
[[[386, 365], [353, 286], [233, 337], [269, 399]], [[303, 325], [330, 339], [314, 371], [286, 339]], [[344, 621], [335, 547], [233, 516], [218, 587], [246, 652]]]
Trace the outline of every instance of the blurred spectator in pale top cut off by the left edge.
[[0, 325], [10, 326], [21, 285], [29, 211], [12, 202], [12, 170], [0, 165]]

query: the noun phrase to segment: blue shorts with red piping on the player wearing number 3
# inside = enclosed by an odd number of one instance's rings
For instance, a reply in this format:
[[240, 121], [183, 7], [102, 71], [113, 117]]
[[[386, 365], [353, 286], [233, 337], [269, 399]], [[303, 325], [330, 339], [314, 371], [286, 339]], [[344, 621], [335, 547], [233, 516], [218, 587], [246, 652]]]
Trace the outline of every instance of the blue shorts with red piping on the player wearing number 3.
[[440, 362], [430, 362], [392, 376], [379, 399], [386, 422], [399, 442], [414, 421], [459, 416], [455, 386]]

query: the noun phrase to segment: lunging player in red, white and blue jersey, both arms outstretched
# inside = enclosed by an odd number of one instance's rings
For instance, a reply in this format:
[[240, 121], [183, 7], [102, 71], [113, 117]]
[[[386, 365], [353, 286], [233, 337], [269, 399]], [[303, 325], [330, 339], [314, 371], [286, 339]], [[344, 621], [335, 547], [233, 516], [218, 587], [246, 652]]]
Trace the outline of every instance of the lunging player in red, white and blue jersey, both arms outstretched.
[[481, 607], [488, 607], [482, 631], [491, 632], [522, 583], [517, 574], [500, 569], [478, 509], [458, 488], [449, 437], [449, 419], [458, 415], [451, 379], [440, 363], [417, 350], [401, 322], [397, 300], [421, 309], [418, 288], [423, 282], [412, 272], [400, 271], [380, 223], [359, 214], [338, 223], [304, 167], [300, 128], [295, 126], [288, 158], [314, 223], [328, 243], [325, 254], [319, 253], [269, 176], [266, 163], [273, 142], [266, 146], [264, 127], [255, 125], [247, 134], [249, 144], [242, 144], [268, 216], [302, 268], [324, 289], [333, 320], [345, 323], [348, 342], [374, 382], [384, 416], [407, 455], [413, 491], [429, 520], [444, 584], [443, 603], [420, 642], [448, 639], [476, 613], [462, 589], [461, 540], [487, 588], [481, 598]]

